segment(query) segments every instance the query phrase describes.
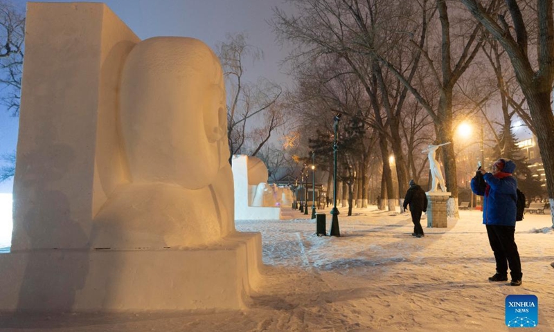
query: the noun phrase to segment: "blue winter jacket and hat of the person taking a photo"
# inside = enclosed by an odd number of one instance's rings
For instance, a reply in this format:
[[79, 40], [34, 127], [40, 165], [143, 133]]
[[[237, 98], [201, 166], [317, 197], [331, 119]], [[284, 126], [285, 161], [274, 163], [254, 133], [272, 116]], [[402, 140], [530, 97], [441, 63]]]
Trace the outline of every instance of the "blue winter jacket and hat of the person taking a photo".
[[[514, 171], [515, 163], [512, 160], [506, 160], [502, 172], [511, 174]], [[515, 226], [516, 178], [514, 176], [495, 178], [492, 173], [483, 174], [483, 178], [490, 185], [488, 196], [485, 196], [485, 190], [477, 185], [477, 179], [472, 178], [472, 191], [476, 195], [483, 196], [483, 223], [485, 225]]]

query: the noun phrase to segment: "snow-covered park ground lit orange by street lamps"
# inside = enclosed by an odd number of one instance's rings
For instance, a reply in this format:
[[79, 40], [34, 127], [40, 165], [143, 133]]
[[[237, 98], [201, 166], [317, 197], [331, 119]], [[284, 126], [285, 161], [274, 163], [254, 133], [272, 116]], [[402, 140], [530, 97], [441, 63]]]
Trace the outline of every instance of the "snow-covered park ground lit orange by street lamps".
[[425, 228], [423, 219], [421, 239], [411, 237], [408, 214], [375, 206], [353, 216], [341, 209], [339, 238], [317, 237], [307, 217], [285, 210], [280, 221], [237, 221], [238, 230], [262, 232], [265, 263], [245, 311], [3, 313], [0, 331], [508, 331], [512, 294], [537, 295], [533, 331], [554, 331], [548, 212], [517, 223], [519, 287], [488, 282], [494, 259], [479, 211], [461, 211], [448, 228]]

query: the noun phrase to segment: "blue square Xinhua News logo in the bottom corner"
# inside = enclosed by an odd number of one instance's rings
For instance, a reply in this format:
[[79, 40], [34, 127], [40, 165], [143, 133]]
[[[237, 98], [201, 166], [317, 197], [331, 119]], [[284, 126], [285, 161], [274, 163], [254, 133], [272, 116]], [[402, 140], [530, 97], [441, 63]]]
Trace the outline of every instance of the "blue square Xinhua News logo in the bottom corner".
[[539, 299], [535, 295], [508, 295], [506, 297], [506, 325], [508, 327], [535, 327], [539, 324]]

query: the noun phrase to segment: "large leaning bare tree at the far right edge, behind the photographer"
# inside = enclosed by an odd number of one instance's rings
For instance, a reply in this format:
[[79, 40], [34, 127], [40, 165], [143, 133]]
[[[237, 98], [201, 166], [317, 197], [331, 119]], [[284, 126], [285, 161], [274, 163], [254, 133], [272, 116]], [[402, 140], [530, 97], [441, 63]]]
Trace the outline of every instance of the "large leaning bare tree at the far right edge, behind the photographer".
[[[548, 199], [554, 206], [554, 114], [551, 105], [554, 81], [554, 19], [553, 0], [537, 0], [531, 19], [524, 19], [515, 0], [506, 0], [510, 17], [498, 15], [496, 19], [478, 0], [460, 0], [472, 15], [498, 40], [514, 68], [517, 82], [524, 93], [530, 113], [530, 124], [535, 128], [540, 154], [546, 174]], [[511, 25], [508, 23], [511, 20]], [[528, 50], [529, 26], [537, 29], [537, 53]], [[515, 33], [515, 36], [512, 35]], [[554, 227], [554, 209], [551, 209]]]

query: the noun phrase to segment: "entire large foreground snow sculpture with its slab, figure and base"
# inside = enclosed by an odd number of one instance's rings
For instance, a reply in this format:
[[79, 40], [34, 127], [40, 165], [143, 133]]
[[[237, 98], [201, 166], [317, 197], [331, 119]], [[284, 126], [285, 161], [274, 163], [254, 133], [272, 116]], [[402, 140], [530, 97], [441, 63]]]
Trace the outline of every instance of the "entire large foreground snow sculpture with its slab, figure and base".
[[261, 237], [234, 228], [220, 64], [140, 41], [102, 3], [28, 3], [0, 310], [243, 308]]

